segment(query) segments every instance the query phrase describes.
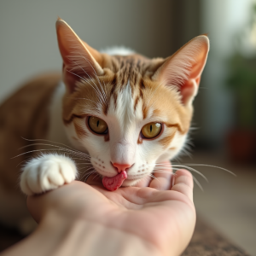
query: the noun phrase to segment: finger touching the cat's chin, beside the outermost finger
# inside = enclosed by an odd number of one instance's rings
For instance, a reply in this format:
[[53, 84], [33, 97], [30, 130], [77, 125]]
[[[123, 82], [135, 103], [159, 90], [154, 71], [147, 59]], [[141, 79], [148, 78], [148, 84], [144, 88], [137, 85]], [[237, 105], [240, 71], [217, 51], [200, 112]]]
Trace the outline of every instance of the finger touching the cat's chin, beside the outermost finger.
[[171, 162], [163, 162], [161, 163], [161, 166], [158, 167], [158, 170], [154, 172], [154, 178], [149, 184], [149, 187], [158, 190], [170, 189], [172, 176], [173, 173]]

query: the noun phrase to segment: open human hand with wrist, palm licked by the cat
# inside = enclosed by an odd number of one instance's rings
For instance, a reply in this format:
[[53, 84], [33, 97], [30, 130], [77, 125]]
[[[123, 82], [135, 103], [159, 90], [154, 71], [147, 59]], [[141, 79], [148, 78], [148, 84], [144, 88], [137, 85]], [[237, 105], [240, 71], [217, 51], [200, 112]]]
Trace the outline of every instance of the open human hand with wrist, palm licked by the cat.
[[91, 177], [30, 196], [38, 229], [3, 255], [179, 255], [195, 228], [193, 179], [170, 173], [148, 187], [111, 192]]

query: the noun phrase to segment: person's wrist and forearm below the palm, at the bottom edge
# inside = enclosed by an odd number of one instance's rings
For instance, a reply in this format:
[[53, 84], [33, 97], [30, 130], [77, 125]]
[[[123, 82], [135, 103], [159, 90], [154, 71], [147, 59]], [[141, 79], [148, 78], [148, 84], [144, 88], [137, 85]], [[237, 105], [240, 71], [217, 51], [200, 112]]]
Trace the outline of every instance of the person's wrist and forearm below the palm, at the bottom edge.
[[49, 212], [38, 229], [2, 256], [12, 255], [161, 255], [147, 241], [124, 231], [89, 222], [68, 219]]

